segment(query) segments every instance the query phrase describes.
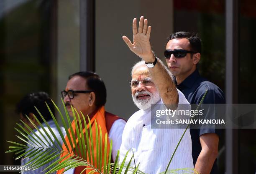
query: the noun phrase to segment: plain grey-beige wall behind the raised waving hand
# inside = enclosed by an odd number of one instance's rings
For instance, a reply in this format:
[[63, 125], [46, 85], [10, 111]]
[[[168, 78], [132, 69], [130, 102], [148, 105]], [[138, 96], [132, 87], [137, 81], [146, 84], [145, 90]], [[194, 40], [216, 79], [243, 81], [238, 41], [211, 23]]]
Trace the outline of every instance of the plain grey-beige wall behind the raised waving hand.
[[140, 59], [123, 42], [126, 35], [133, 40], [132, 20], [148, 18], [151, 45], [163, 57], [166, 37], [173, 31], [172, 0], [96, 0], [96, 72], [107, 87], [106, 110], [128, 119], [138, 108], [131, 97], [131, 67]]

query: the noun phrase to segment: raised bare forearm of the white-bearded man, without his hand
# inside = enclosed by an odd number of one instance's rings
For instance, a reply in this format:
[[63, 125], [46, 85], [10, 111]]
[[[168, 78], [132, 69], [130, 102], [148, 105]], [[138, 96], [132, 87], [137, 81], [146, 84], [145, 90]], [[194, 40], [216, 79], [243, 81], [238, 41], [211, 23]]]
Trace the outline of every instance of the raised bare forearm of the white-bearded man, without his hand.
[[[155, 60], [153, 53], [150, 60], [153, 60], [152, 62]], [[156, 65], [153, 68], [148, 68], [148, 70], [164, 104], [177, 104], [179, 102], [178, 91], [172, 81], [169, 70], [167, 70], [161, 60], [158, 59]]]

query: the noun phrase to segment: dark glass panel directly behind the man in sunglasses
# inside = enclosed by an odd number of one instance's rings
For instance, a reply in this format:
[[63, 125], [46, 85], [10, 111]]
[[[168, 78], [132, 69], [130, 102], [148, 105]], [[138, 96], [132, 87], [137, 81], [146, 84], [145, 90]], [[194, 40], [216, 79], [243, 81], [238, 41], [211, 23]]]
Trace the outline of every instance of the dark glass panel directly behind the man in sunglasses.
[[[174, 32], [198, 33], [202, 40], [198, 70], [225, 92], [225, 1], [174, 0]], [[218, 173], [225, 172], [225, 131], [219, 139]]]

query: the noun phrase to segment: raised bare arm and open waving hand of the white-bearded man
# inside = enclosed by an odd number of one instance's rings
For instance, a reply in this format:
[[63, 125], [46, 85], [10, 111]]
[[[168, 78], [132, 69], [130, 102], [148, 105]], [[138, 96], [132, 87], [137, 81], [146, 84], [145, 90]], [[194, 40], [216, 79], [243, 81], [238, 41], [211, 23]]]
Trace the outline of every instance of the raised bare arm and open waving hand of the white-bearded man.
[[[136, 18], [133, 19], [133, 43], [126, 36], [123, 36], [123, 40], [130, 50], [141, 57], [146, 63], [153, 63], [155, 56], [149, 42], [151, 26], [148, 26], [147, 19], [143, 19], [144, 17], [141, 16], [138, 30], [137, 20]], [[178, 91], [161, 60], [157, 60], [156, 65], [153, 68], [148, 68], [148, 70], [164, 104], [177, 104], [179, 102]]]

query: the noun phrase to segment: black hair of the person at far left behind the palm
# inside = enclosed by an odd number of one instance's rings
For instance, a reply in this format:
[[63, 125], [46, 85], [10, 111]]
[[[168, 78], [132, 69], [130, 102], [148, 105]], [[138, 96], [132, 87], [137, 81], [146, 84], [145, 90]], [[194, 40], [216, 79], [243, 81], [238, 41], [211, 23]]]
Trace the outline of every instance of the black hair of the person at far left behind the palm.
[[26, 118], [26, 115], [28, 116], [29, 113], [33, 113], [36, 116], [36, 118], [38, 118], [38, 120], [42, 123], [44, 121], [41, 118], [41, 116], [38, 114], [36, 110], [37, 108], [38, 111], [44, 117], [44, 119], [46, 121], [49, 121], [50, 119], [52, 119], [52, 117], [49, 112], [49, 109], [46, 106], [46, 103], [51, 109], [51, 112], [55, 114], [54, 104], [51, 102], [51, 99], [46, 92], [32, 92], [32, 93], [26, 94], [26, 96], [20, 100], [20, 102], [16, 106], [16, 112], [18, 114], [21, 113], [25, 118]]

